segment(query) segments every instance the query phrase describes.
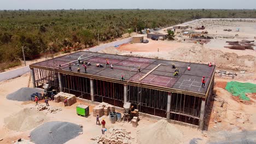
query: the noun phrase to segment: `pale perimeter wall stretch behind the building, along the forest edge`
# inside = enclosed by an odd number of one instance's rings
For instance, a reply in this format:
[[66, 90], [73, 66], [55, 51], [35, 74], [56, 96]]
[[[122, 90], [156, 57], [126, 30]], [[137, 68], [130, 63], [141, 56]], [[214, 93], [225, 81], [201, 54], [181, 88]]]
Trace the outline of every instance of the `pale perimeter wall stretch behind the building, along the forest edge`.
[[[92, 52], [97, 52], [97, 51], [101, 51], [103, 49], [106, 49], [107, 47], [126, 44], [126, 43], [130, 43], [131, 41], [132, 41], [132, 38], [121, 39], [121, 40], [113, 41], [111, 43], [102, 44], [102, 45], [99, 45], [99, 46], [94, 46], [94, 47], [91, 47], [88, 50], [92, 51]], [[85, 50], [85, 51], [88, 51], [88, 50]]]

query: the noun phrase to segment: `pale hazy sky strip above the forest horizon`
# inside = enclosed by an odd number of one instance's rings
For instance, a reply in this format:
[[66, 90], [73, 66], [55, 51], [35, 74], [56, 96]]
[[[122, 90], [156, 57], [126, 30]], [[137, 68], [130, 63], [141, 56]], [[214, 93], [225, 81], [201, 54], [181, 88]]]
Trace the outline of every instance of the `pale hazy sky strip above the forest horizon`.
[[256, 9], [256, 0], [0, 0], [0, 9]]

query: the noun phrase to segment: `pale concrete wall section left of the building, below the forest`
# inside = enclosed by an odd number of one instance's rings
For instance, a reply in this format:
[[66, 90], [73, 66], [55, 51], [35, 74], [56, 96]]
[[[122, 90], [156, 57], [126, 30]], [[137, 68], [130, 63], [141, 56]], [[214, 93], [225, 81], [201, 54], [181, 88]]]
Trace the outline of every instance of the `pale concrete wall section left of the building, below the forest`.
[[10, 71], [5, 71], [3, 73], [0, 73], [0, 81], [13, 79], [15, 77], [21, 76], [21, 75], [23, 75], [25, 73], [28, 73], [28, 72], [30, 72], [30, 67], [29, 66], [14, 69], [14, 70], [10, 70]]

